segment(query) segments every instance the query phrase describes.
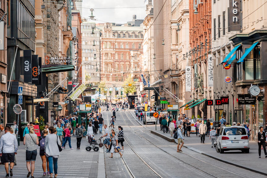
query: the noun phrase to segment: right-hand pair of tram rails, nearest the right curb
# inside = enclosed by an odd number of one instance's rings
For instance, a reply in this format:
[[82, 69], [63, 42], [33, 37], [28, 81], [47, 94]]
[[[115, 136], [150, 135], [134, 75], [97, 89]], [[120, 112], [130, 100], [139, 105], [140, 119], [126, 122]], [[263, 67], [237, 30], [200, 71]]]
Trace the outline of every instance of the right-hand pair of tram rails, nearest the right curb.
[[[128, 112], [129, 112], [129, 111], [128, 111]], [[210, 176], [219, 178], [219, 177], [217, 177], [217, 176], [215, 176], [215, 175], [213, 175], [213, 174], [211, 174], [211, 173], [209, 173], [209, 172], [207, 172], [207, 171], [203, 171], [202, 169], [193, 166], [191, 163], [187, 163], [186, 161], [183, 161], [182, 159], [177, 158], [176, 156], [170, 154], [170, 153], [167, 152], [166, 150], [164, 150], [164, 149], [160, 148], [159, 146], [155, 145], [153, 142], [151, 142], [150, 140], [148, 140], [147, 138], [145, 138], [143, 135], [137, 133], [136, 130], [132, 129], [131, 126], [128, 125], [128, 123], [127, 123], [126, 120], [124, 119], [124, 117], [123, 117], [123, 115], [122, 115], [121, 112], [120, 112], [120, 114], [121, 114], [121, 116], [122, 116], [122, 118], [123, 118], [125, 124], [126, 124], [126, 125], [127, 125], [133, 132], [134, 132], [134, 134], [139, 135], [140, 137], [142, 137], [143, 139], [145, 139], [145, 140], [147, 140], [149, 143], [151, 143], [153, 146], [156, 146], [158, 149], [164, 151], [165, 153], [167, 153], [168, 155], [174, 157], [175, 159], [178, 159], [179, 161], [181, 161], [181, 162], [183, 162], [183, 163], [185, 163], [185, 164], [187, 164], [187, 165], [190, 165], [190, 166], [192, 166], [192, 167], [198, 169], [199, 171], [204, 172], [204, 173], [206, 173], [206, 174], [208, 174], [208, 175], [210, 175]], [[129, 114], [131, 115], [132, 118], [134, 118], [130, 112], [129, 112]], [[128, 117], [127, 114], [126, 114], [126, 116], [127, 116], [128, 120], [134, 125], [134, 127], [136, 127], [138, 130], [142, 131], [143, 134], [147, 134], [147, 135], [153, 137], [154, 139], [158, 140], [159, 142], [161, 142], [159, 139], [155, 138], [153, 135], [148, 134], [148, 133], [145, 133], [143, 130], [141, 130], [140, 128], [138, 128], [138, 127], [132, 122], [132, 120]], [[134, 119], [135, 119], [135, 118], [134, 118]], [[136, 119], [135, 119], [135, 120], [136, 120]], [[140, 124], [138, 121], [137, 121], [137, 123]], [[140, 124], [140, 125], [141, 125], [141, 124]], [[141, 125], [141, 126], [143, 126], [143, 125]], [[144, 126], [143, 126], [143, 127], [144, 127]], [[145, 128], [145, 127], [144, 127], [144, 128]], [[145, 129], [147, 129], [147, 128], [145, 128]], [[161, 142], [161, 143], [163, 143], [163, 142]], [[169, 146], [169, 145], [167, 145], [167, 146]], [[172, 148], [172, 149], [174, 149], [172, 146], [169, 146], [169, 147]], [[174, 149], [174, 150], [176, 151], [176, 149]], [[242, 177], [242, 178], [247, 178], [247, 177], [244, 177], [244, 176], [240, 176], [240, 175], [238, 175], [238, 174], [236, 174], [236, 173], [234, 173], [234, 172], [231, 172], [231, 171], [229, 171], [229, 170], [226, 170], [226, 169], [223, 169], [223, 168], [221, 168], [221, 167], [215, 166], [215, 165], [213, 165], [213, 164], [207, 163], [206, 161], [200, 160], [200, 159], [198, 159], [198, 158], [196, 158], [196, 157], [194, 157], [194, 156], [192, 156], [192, 155], [188, 155], [188, 154], [183, 153], [183, 152], [182, 152], [182, 154], [187, 155], [187, 156], [189, 156], [189, 157], [191, 157], [191, 158], [193, 158], [193, 159], [196, 159], [196, 160], [202, 162], [203, 164], [207, 164], [207, 165], [209, 165], [209, 166], [215, 167], [216, 169], [220, 169], [220, 170], [222, 170], [222, 171], [228, 172], [228, 173], [230, 173], [230, 174], [233, 174], [233, 175], [236, 175], [236, 176], [239, 176], [239, 177]]]

